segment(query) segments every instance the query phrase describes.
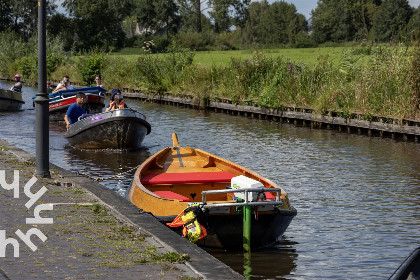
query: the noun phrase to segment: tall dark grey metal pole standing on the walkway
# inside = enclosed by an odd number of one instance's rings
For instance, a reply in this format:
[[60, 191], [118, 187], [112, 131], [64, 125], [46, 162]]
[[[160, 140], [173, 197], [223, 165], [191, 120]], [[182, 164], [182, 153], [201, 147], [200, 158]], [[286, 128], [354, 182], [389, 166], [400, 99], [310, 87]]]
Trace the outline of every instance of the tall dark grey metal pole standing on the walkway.
[[38, 92], [36, 110], [36, 176], [51, 177], [49, 155], [49, 116], [47, 93], [46, 0], [38, 0]]

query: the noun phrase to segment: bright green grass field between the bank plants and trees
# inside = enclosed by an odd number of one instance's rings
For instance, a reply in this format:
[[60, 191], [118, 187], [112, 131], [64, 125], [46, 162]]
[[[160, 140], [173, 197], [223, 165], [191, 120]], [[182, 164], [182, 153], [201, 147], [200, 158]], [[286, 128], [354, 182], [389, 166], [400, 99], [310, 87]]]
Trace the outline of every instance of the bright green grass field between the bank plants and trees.
[[[315, 64], [319, 56], [328, 55], [333, 63], [339, 63], [345, 52], [351, 52], [351, 47], [323, 47], [305, 49], [260, 49], [260, 50], [230, 50], [230, 51], [200, 51], [195, 52], [194, 63], [203, 66], [225, 66], [231, 58], [251, 58], [255, 52], [263, 52], [269, 57], [283, 56], [293, 63], [305, 63], [309, 66]], [[128, 59], [137, 59], [142, 53], [140, 48], [126, 48], [113, 55], [120, 55]], [[353, 58], [362, 56], [352, 55]]]

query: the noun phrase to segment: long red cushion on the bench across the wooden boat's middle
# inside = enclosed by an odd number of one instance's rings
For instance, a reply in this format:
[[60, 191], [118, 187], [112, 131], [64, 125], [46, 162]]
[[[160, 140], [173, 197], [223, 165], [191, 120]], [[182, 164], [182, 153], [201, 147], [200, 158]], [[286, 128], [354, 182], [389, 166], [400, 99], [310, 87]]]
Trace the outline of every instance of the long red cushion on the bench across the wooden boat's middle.
[[147, 174], [141, 179], [142, 184], [186, 184], [230, 182], [236, 175], [227, 171], [221, 172], [191, 172], [191, 173], [161, 173]]

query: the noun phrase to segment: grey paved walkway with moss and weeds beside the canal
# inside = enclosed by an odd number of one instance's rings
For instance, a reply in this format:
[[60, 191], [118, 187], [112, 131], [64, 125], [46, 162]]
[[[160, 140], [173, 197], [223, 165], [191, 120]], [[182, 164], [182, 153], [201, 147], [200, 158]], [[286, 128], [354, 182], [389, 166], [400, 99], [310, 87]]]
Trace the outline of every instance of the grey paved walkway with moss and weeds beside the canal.
[[0, 279], [242, 278], [99, 184], [56, 166], [52, 178], [34, 172], [0, 139]]

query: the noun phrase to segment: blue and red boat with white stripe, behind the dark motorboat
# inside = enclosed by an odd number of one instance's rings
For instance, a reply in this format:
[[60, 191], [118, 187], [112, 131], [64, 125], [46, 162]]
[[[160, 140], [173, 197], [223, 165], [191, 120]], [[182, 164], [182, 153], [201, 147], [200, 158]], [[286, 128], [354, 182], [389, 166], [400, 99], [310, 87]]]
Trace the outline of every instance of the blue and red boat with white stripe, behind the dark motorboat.
[[[60, 90], [48, 95], [50, 121], [64, 121], [64, 115], [67, 109], [73, 103], [76, 103], [76, 94], [83, 92], [86, 94], [85, 108], [89, 114], [102, 112], [105, 107], [105, 92], [102, 87], [84, 87], [70, 90]], [[32, 98], [35, 99], [36, 95]]]

